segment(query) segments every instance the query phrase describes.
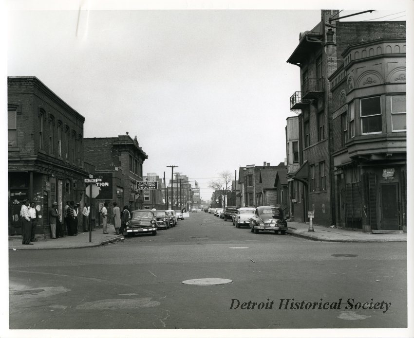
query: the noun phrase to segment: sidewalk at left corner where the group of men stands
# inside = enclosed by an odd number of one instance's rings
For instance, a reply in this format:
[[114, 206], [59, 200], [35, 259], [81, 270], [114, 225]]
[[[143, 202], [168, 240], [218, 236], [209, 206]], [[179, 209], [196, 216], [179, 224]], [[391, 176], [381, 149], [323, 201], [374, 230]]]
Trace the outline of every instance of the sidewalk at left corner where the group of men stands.
[[80, 249], [98, 247], [111, 242], [117, 242], [124, 236], [115, 234], [113, 225], [108, 224], [107, 231], [103, 233], [102, 228], [92, 231], [92, 242], [89, 242], [89, 231], [78, 232], [77, 236], [66, 236], [57, 239], [37, 240], [33, 245], [21, 244], [21, 236], [9, 236], [9, 250], [38, 250], [38, 249]]

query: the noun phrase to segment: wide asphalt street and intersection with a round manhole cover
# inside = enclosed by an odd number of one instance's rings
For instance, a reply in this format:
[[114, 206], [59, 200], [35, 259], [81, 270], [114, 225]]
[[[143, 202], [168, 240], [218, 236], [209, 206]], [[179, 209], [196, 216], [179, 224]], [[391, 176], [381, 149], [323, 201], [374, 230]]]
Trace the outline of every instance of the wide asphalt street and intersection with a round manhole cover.
[[[406, 327], [406, 244], [254, 234], [199, 212], [156, 236], [10, 251], [10, 328]], [[182, 283], [205, 278], [232, 282]]]

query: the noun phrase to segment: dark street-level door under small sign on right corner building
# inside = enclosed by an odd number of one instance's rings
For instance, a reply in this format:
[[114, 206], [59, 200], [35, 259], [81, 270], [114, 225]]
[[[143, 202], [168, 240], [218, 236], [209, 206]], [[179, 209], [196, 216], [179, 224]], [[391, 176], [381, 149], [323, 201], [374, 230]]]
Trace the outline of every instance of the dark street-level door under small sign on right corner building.
[[381, 230], [400, 230], [398, 183], [381, 184]]

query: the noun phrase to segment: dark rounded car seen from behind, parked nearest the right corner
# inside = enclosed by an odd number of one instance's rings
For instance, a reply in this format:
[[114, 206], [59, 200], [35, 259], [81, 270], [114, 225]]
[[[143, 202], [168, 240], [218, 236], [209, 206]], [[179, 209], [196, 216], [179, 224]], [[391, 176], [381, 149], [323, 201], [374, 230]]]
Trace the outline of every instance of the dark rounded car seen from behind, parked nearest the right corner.
[[287, 222], [283, 217], [282, 208], [279, 207], [257, 207], [252, 218], [250, 218], [250, 231], [259, 233], [261, 231], [281, 231], [286, 233]]

